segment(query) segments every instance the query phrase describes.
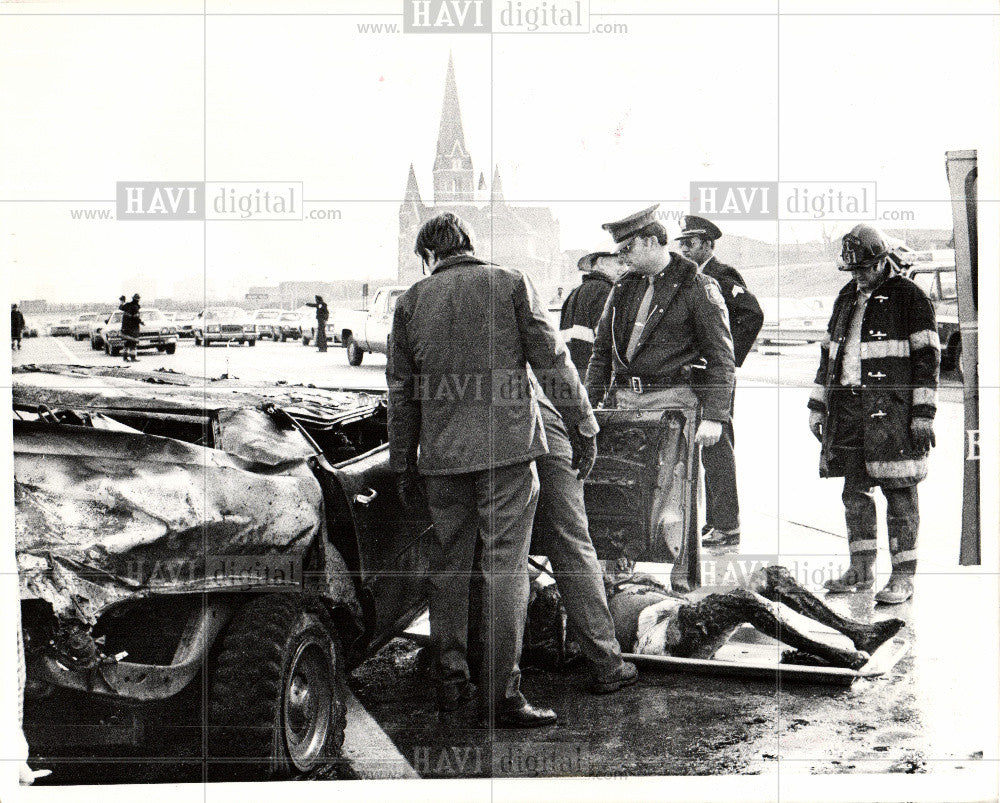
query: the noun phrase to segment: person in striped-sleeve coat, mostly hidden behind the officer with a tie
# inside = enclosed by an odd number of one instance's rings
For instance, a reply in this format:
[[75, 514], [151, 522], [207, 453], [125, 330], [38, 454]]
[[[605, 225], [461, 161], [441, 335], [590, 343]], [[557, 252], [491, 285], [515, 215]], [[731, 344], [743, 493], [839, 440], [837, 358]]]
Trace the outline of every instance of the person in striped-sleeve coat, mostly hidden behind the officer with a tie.
[[580, 257], [576, 263], [579, 270], [586, 271], [583, 281], [574, 287], [563, 303], [559, 329], [573, 365], [586, 376], [590, 355], [594, 351], [594, 332], [601, 320], [604, 304], [615, 280], [624, 270], [617, 255], [609, 251], [595, 251]]

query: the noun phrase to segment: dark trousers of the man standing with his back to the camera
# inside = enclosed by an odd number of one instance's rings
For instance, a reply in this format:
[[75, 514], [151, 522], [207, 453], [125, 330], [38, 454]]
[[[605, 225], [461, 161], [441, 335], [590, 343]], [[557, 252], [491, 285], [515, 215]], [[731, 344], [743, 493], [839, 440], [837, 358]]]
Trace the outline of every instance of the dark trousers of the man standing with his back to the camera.
[[518, 660], [528, 607], [528, 547], [538, 503], [533, 463], [469, 474], [424, 477], [435, 543], [431, 549], [431, 638], [440, 694], [458, 694], [469, 680], [466, 659], [469, 593], [480, 540], [486, 605], [479, 623], [486, 661], [479, 678], [485, 708], [523, 704]]

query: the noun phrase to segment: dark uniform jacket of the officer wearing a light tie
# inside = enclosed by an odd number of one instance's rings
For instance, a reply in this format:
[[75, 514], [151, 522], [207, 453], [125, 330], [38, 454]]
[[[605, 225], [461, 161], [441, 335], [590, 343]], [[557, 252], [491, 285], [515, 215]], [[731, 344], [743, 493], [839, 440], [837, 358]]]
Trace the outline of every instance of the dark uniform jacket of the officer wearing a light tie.
[[[710, 276], [680, 254], [654, 280], [649, 318], [638, 349], [626, 361], [636, 313], [646, 293], [646, 277], [626, 273], [611, 290], [594, 338], [587, 369], [587, 392], [596, 405], [611, 385], [638, 377], [644, 388], [690, 385], [702, 405], [702, 416], [729, 421], [735, 362], [729, 314]], [[703, 363], [701, 370], [689, 366]]]

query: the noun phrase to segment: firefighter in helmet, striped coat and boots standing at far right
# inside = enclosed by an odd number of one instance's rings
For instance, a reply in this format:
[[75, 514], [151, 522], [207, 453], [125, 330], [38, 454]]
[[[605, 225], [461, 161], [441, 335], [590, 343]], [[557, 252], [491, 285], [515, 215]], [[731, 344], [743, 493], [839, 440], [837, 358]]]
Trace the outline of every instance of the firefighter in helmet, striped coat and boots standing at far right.
[[874, 585], [878, 485], [888, 507], [892, 574], [875, 599], [898, 604], [913, 595], [917, 483], [927, 476], [934, 445], [941, 346], [931, 302], [888, 257], [878, 229], [861, 223], [844, 235], [840, 270], [853, 277], [837, 296], [820, 345], [809, 428], [823, 444], [820, 476], [844, 478], [851, 562], [826, 588], [844, 593]]

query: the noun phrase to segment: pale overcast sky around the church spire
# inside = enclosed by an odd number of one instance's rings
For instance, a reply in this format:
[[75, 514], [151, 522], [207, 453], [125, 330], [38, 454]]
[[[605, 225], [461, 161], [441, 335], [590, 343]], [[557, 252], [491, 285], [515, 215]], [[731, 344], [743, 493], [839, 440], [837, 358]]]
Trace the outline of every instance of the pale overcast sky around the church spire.
[[[74, 10], [87, 7], [201, 3]], [[280, 8], [395, 13], [399, 2]], [[997, 18], [801, 13], [831, 8], [796, 4], [780, 23], [623, 14], [601, 21], [627, 33], [492, 37], [358, 32], [400, 21], [391, 16], [0, 16], [0, 198], [17, 201], [0, 204], [9, 295], [227, 294], [394, 276], [411, 162], [431, 197], [449, 52], [477, 176], [497, 165], [508, 198], [551, 206], [565, 249], [602, 244], [601, 222], [652, 201], [684, 209], [692, 180], [874, 181], [880, 211], [949, 228], [945, 151], [979, 148], [996, 162], [997, 93], [986, 87], [998, 80]], [[205, 226], [70, 215], [113, 209], [97, 202], [112, 201], [119, 180], [205, 178], [302, 181], [316, 202], [307, 209], [341, 217]], [[770, 241], [818, 234], [726, 229]]]

